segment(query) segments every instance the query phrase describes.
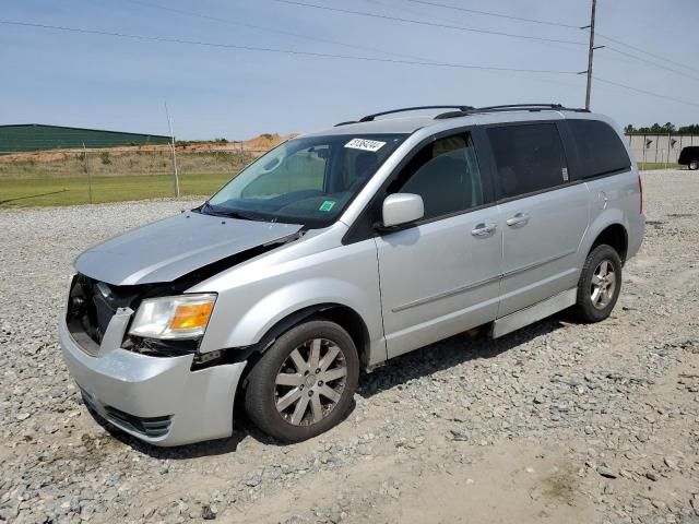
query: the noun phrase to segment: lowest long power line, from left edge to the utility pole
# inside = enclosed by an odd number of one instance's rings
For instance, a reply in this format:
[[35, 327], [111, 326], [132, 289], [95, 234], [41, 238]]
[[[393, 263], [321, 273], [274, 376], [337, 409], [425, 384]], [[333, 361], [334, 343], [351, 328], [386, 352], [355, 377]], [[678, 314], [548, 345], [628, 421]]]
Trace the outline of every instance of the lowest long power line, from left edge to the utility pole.
[[114, 36], [114, 37], [130, 38], [135, 40], [185, 44], [185, 45], [192, 45], [192, 46], [215, 47], [215, 48], [223, 48], [223, 49], [237, 49], [241, 51], [275, 52], [275, 53], [284, 53], [284, 55], [312, 57], [312, 58], [334, 58], [334, 59], [341, 59], [341, 60], [359, 60], [359, 61], [366, 61], [366, 62], [399, 63], [399, 64], [410, 64], [410, 66], [440, 67], [440, 68], [451, 68], [451, 69], [471, 69], [471, 70], [484, 70], [484, 71], [511, 71], [517, 73], [576, 74], [576, 72], [573, 71], [561, 71], [561, 70], [498, 68], [493, 66], [474, 66], [474, 64], [465, 64], [465, 63], [429, 62], [429, 61], [420, 62], [420, 61], [414, 61], [414, 60], [399, 60], [399, 59], [392, 59], [392, 58], [358, 57], [353, 55], [332, 55], [332, 53], [325, 53], [325, 52], [299, 51], [295, 49], [279, 49], [279, 48], [272, 48], [272, 47], [242, 46], [238, 44], [221, 44], [221, 43], [212, 43], [212, 41], [203, 41], [203, 40], [191, 40], [191, 39], [174, 38], [174, 37], [167, 37], [167, 36], [132, 35], [128, 33], [112, 33], [108, 31], [85, 29], [80, 27], [67, 27], [67, 26], [59, 26], [59, 25], [37, 24], [37, 23], [29, 23], [29, 22], [9, 21], [9, 20], [0, 20], [0, 24], [17, 25], [23, 27], [37, 27], [43, 29], [63, 31], [63, 32], [70, 32], [70, 33], [84, 33], [90, 35]]

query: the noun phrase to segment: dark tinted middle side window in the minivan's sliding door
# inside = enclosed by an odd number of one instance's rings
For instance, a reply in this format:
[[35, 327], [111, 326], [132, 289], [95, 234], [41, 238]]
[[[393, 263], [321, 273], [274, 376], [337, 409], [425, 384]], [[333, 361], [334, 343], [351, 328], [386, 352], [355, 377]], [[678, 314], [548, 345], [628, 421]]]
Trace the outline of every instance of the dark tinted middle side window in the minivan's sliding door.
[[489, 128], [500, 196], [554, 188], [568, 181], [564, 146], [555, 123]]

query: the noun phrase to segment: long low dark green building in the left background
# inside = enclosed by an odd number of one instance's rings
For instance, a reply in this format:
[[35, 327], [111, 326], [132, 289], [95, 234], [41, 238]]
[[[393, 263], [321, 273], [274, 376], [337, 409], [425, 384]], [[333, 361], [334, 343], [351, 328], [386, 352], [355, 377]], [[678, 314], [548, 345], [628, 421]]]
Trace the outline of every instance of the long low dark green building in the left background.
[[0, 154], [75, 148], [83, 144], [85, 147], [167, 144], [169, 140], [169, 136], [162, 134], [122, 133], [40, 123], [0, 126]]

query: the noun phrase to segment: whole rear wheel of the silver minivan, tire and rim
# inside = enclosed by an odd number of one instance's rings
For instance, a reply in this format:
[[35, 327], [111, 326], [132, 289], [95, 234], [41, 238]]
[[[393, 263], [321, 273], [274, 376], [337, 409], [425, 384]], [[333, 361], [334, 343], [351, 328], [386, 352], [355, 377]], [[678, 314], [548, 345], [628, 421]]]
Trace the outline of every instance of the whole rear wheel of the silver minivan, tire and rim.
[[601, 245], [590, 251], [578, 281], [576, 310], [584, 322], [600, 322], [612, 313], [621, 290], [621, 260]]

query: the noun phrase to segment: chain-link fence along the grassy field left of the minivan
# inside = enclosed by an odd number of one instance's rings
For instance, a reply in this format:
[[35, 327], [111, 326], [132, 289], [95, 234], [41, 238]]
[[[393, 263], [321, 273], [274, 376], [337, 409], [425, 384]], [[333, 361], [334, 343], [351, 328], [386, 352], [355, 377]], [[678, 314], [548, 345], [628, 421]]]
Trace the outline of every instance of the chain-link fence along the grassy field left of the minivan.
[[209, 195], [266, 151], [206, 143], [0, 154], [0, 206]]

